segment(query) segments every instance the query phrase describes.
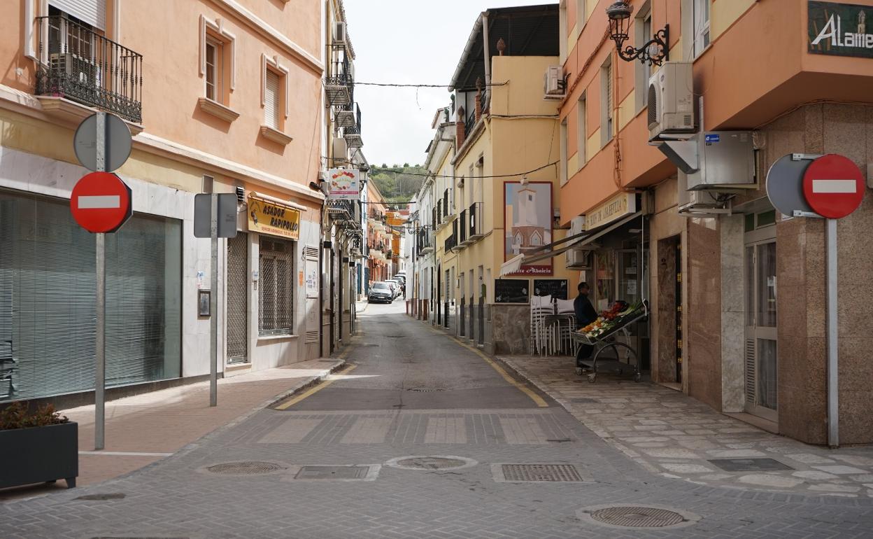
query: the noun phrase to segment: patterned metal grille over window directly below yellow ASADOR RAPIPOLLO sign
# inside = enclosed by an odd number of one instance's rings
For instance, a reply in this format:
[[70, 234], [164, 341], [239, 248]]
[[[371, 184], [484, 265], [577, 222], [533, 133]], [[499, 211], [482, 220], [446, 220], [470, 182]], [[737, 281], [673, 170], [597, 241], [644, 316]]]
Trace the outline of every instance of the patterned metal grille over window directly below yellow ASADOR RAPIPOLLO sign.
[[260, 239], [261, 290], [258, 294], [258, 333], [291, 335], [293, 320], [293, 243]]

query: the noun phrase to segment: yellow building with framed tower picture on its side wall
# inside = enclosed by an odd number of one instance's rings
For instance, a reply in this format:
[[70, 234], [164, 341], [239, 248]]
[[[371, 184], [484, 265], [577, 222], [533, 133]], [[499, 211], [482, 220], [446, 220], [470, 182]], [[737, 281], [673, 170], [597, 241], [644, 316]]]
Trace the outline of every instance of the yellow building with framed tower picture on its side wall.
[[505, 268], [567, 233], [556, 218], [558, 104], [541, 78], [559, 60], [557, 6], [485, 11], [471, 43], [452, 80], [455, 149], [433, 167], [436, 318], [489, 352], [527, 353], [532, 298], [571, 300], [579, 275], [551, 259]]

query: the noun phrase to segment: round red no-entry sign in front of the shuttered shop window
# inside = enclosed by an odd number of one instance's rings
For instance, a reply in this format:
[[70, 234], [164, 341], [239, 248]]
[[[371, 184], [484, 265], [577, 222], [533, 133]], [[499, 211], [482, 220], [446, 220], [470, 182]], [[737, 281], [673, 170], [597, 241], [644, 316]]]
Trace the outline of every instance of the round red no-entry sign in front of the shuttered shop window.
[[112, 172], [82, 176], [72, 188], [72, 218], [89, 232], [114, 232], [134, 213], [132, 192]]

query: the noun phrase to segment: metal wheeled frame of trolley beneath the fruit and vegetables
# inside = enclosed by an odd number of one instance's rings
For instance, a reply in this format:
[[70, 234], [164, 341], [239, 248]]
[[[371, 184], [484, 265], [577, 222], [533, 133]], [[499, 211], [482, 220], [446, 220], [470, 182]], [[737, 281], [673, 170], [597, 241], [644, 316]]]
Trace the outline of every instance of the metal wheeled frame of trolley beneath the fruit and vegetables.
[[[636, 354], [636, 349], [629, 344], [630, 333], [628, 328], [631, 324], [641, 321], [647, 316], [649, 316], [648, 300], [643, 301], [643, 308], [637, 311], [637, 314], [629, 314], [625, 319], [616, 324], [614, 328], [610, 328], [608, 331], [601, 333], [601, 335], [589, 338], [579, 331], [570, 332], [570, 337], [574, 342], [595, 347], [595, 352], [591, 357], [579, 362], [580, 366], [576, 367], [576, 374], [582, 376], [584, 370], [590, 370], [588, 382], [594, 384], [597, 381], [598, 371], [604, 367], [618, 374], [623, 374], [626, 369], [633, 369], [634, 382], [642, 380], [640, 358]], [[624, 342], [616, 339], [618, 335], [624, 335]]]

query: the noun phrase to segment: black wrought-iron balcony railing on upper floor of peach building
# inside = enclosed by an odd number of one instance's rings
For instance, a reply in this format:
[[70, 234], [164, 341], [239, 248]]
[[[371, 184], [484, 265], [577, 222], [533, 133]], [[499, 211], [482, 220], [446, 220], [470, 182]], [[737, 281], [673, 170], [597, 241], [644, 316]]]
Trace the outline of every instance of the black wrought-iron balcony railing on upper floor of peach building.
[[142, 122], [142, 55], [63, 15], [37, 17], [37, 95]]

